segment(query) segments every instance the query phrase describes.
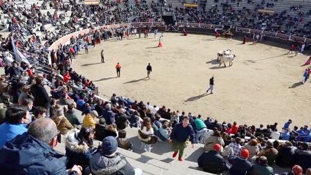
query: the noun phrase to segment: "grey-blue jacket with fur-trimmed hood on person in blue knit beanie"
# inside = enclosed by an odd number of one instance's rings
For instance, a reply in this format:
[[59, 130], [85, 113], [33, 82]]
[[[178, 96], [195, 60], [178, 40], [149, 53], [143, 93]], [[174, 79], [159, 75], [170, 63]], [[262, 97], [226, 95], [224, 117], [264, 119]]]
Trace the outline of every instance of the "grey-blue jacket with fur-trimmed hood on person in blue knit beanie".
[[90, 169], [95, 175], [117, 174], [126, 166], [129, 166], [129, 163], [126, 163], [125, 157], [120, 153], [116, 153], [114, 156], [103, 156], [97, 152], [90, 160]]

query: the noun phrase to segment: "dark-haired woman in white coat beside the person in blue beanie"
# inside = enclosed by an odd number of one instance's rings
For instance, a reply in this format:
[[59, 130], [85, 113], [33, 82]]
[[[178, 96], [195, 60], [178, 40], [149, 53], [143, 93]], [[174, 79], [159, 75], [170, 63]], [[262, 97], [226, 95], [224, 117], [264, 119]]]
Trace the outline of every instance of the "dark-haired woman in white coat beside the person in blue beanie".
[[80, 165], [83, 174], [89, 174], [88, 161], [95, 148], [93, 147], [94, 131], [92, 128], [82, 128], [81, 131], [72, 131], [66, 136], [67, 167]]

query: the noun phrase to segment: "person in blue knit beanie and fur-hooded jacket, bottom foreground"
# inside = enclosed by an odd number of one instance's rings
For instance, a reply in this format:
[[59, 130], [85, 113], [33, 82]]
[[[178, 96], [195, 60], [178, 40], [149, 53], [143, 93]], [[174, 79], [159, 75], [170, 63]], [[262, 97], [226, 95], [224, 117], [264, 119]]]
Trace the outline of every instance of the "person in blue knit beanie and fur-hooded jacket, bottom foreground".
[[117, 139], [109, 136], [90, 160], [91, 174], [140, 175], [142, 169], [133, 168], [125, 156], [117, 152]]

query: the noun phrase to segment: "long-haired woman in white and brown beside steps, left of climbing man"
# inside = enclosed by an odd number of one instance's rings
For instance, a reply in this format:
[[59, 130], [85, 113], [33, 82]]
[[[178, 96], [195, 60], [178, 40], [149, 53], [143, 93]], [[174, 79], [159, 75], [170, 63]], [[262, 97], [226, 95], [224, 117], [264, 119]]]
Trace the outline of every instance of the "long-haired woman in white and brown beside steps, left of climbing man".
[[150, 125], [150, 118], [144, 118], [142, 122], [142, 127], [138, 130], [138, 138], [142, 142], [140, 149], [144, 149], [144, 151], [151, 151], [151, 139], [154, 136], [153, 129]]

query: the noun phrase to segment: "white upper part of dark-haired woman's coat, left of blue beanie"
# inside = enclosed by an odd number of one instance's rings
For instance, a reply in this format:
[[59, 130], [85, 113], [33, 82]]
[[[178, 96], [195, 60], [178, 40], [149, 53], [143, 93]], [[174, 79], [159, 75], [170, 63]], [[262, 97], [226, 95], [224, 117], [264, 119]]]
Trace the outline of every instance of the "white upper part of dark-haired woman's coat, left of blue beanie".
[[88, 147], [85, 142], [79, 144], [79, 140], [77, 140], [78, 133], [79, 131], [72, 131], [67, 134], [66, 148], [76, 153], [86, 153], [87, 151], [89, 151], [90, 147]]

